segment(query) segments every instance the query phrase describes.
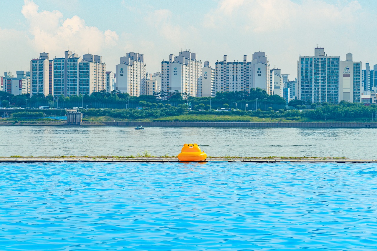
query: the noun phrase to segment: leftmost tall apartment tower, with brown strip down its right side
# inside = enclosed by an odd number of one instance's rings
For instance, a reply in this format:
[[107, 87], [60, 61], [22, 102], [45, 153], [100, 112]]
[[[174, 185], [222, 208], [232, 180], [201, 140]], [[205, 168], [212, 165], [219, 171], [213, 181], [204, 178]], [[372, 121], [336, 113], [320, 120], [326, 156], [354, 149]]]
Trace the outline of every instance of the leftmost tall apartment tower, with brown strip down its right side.
[[31, 93], [37, 95], [42, 93], [44, 96], [52, 94], [52, 60], [49, 60], [49, 54], [42, 52], [39, 58], [33, 58], [30, 61]]

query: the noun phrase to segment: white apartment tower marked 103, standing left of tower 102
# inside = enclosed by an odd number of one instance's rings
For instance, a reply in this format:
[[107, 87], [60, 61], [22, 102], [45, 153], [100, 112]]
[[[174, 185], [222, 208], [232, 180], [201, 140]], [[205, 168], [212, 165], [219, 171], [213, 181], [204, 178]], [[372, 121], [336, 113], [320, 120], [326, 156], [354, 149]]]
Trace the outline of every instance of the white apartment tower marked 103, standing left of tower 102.
[[146, 64], [144, 55], [129, 52], [116, 65], [116, 90], [131, 96], [146, 93]]

